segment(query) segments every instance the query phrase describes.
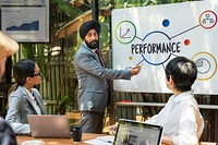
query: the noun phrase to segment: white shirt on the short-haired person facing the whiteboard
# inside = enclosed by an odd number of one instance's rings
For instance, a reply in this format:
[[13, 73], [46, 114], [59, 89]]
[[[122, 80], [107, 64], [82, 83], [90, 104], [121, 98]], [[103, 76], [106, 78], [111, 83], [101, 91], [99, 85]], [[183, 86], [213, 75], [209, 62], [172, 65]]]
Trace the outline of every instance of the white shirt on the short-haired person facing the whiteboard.
[[193, 90], [177, 97], [172, 95], [165, 108], [146, 122], [164, 125], [164, 135], [170, 136], [175, 145], [197, 144], [204, 129], [204, 119]]

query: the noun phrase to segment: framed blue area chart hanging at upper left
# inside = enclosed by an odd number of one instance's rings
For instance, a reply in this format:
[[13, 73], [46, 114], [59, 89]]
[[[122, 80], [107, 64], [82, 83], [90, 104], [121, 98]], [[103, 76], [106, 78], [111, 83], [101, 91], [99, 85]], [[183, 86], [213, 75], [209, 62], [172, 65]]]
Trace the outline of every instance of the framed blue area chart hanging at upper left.
[[19, 43], [49, 43], [49, 1], [11, 0], [1, 4], [1, 31]]

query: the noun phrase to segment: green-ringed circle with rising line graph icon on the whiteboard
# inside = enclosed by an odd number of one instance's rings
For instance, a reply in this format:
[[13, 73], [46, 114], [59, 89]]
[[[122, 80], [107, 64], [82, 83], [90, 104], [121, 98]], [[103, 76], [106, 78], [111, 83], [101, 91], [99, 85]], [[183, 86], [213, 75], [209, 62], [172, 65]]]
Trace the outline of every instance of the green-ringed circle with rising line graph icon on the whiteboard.
[[131, 21], [122, 21], [116, 27], [116, 38], [121, 44], [130, 44], [136, 36], [136, 27]]

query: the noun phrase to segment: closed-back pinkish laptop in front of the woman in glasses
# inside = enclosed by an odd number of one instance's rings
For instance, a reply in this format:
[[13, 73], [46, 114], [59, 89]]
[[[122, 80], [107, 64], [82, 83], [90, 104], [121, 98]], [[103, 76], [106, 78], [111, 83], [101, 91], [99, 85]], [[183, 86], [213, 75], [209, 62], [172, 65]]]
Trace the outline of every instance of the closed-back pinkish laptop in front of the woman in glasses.
[[71, 137], [66, 116], [27, 114], [27, 119], [33, 137]]

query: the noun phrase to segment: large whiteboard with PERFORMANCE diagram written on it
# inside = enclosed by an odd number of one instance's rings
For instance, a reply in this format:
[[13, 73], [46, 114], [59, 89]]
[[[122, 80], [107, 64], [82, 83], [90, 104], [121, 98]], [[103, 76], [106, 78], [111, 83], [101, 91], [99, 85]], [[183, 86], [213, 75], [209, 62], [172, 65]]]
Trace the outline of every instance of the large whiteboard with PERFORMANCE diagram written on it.
[[195, 1], [112, 11], [113, 69], [142, 65], [131, 81], [113, 81], [120, 92], [171, 93], [165, 67], [174, 57], [197, 65], [195, 94], [218, 94], [218, 1]]

